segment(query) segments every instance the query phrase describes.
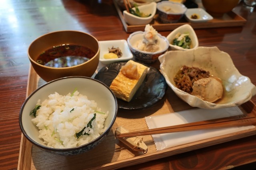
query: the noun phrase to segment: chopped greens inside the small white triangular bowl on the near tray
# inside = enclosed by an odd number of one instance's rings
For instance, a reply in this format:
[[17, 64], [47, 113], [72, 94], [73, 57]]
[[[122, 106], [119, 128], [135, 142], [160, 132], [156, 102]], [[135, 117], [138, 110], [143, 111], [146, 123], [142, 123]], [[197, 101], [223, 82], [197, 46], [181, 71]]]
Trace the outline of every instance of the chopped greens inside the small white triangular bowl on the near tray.
[[180, 34], [178, 33], [176, 37], [174, 38], [172, 45], [178, 45], [179, 47], [182, 47], [184, 49], [190, 49], [191, 45], [191, 39], [189, 37], [189, 34]]

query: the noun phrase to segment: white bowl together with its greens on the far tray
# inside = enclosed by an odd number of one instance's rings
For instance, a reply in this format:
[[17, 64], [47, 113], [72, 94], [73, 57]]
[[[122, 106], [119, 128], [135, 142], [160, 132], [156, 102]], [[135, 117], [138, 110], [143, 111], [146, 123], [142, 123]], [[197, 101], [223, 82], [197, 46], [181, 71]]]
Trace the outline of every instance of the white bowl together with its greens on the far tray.
[[156, 14], [156, 2], [136, 6], [128, 12], [123, 11], [124, 21], [129, 25], [145, 25], [150, 23]]

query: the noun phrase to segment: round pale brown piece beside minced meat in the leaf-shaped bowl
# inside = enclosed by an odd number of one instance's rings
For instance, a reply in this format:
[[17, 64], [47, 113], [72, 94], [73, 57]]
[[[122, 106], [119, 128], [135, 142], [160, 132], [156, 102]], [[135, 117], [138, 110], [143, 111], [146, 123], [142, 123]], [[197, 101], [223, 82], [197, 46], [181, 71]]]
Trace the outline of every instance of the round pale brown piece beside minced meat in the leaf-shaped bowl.
[[207, 102], [215, 102], [223, 95], [222, 81], [216, 77], [201, 78], [194, 82], [192, 89], [192, 95]]

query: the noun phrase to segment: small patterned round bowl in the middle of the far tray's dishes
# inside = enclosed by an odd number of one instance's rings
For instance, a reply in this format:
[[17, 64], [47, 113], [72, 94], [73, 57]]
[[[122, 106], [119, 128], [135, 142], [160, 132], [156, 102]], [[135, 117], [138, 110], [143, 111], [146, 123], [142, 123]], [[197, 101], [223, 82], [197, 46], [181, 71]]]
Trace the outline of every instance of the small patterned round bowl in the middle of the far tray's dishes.
[[187, 11], [184, 4], [162, 1], [157, 3], [158, 17], [163, 23], [175, 23], [178, 22]]

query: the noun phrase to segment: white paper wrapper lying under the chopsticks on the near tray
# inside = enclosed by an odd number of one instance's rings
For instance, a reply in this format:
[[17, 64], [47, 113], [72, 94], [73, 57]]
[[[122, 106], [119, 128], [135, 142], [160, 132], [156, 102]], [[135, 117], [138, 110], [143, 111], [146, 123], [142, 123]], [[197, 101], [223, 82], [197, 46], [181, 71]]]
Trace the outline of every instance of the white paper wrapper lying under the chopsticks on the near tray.
[[[172, 125], [180, 125], [184, 123], [192, 123], [196, 121], [204, 121], [210, 119], [218, 119], [222, 117], [230, 117], [236, 115], [242, 115], [242, 111], [238, 107], [229, 107], [222, 109], [190, 109], [185, 111], [179, 111], [174, 113], [167, 113], [164, 115], [145, 117], [148, 129], [154, 129], [158, 127], [166, 127]], [[178, 145], [188, 144], [195, 141], [209, 139], [212, 137], [218, 137], [237, 131], [243, 131], [246, 129], [254, 128], [255, 126], [243, 126], [243, 127], [228, 127], [221, 129], [208, 129], [197, 131], [186, 131], [176, 133], [166, 133], [159, 135], [152, 135], [156, 150], [162, 150]]]

